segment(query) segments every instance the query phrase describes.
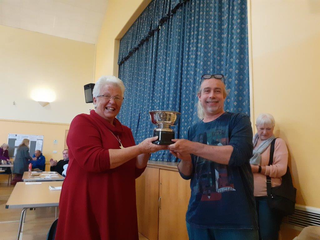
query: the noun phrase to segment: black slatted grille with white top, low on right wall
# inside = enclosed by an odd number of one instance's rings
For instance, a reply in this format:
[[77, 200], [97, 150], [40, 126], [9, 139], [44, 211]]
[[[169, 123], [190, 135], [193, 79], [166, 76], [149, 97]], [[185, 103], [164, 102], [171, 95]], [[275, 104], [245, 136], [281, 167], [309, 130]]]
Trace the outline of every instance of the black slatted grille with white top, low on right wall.
[[320, 208], [296, 204], [294, 213], [284, 217], [282, 222], [285, 227], [298, 231], [308, 226], [320, 226]]

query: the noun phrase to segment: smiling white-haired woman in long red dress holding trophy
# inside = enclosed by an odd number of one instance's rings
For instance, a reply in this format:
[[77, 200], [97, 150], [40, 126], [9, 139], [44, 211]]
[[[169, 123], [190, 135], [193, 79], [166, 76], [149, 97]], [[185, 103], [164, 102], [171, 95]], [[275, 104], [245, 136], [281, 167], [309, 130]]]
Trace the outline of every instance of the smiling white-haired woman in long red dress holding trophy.
[[95, 110], [71, 122], [56, 240], [138, 240], [135, 179], [150, 153], [167, 146], [153, 144], [157, 137], [135, 145], [131, 130], [116, 119], [124, 90], [119, 78], [102, 76], [92, 92]]

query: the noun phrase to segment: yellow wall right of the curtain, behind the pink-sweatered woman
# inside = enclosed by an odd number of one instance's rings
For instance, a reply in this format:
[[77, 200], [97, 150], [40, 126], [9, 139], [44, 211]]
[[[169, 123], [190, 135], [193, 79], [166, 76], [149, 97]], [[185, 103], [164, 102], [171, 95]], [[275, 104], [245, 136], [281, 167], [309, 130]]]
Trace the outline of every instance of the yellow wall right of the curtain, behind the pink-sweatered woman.
[[320, 207], [320, 2], [251, 1], [253, 112], [273, 114], [297, 203]]

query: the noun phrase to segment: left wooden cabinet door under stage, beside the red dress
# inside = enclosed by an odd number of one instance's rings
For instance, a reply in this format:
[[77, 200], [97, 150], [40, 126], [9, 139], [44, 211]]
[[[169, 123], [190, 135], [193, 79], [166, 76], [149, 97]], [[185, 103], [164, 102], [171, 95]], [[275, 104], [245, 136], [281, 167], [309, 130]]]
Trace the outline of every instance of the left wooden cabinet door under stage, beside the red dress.
[[136, 179], [138, 230], [149, 240], [158, 239], [159, 169], [147, 167]]

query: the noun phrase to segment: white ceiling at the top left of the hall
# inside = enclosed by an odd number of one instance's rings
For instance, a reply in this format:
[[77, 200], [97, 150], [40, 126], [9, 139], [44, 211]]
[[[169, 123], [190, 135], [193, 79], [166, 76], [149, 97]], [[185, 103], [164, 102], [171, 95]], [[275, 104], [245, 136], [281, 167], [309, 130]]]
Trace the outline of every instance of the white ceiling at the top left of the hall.
[[0, 24], [95, 44], [108, 0], [0, 0]]

